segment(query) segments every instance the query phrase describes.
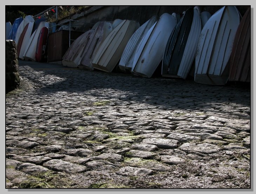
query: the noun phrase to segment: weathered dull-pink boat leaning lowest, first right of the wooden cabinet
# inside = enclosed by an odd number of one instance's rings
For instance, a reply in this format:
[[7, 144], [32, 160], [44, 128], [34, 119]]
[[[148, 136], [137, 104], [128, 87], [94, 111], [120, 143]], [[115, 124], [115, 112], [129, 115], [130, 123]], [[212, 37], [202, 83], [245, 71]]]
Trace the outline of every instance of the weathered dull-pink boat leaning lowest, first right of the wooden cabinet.
[[62, 65], [68, 67], [78, 67], [83, 57], [82, 53], [86, 45], [89, 43], [89, 37], [94, 30], [88, 30], [69, 46], [65, 55], [62, 57]]

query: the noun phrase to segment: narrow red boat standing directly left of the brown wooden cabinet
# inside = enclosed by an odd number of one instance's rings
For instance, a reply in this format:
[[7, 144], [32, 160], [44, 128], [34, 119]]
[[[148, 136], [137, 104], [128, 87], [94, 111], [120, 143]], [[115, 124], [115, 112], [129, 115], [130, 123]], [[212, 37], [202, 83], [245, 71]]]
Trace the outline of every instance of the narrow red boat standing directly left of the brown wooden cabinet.
[[48, 37], [48, 28], [43, 27], [40, 31], [40, 35], [38, 37], [38, 41], [36, 45], [35, 60], [37, 62], [41, 62], [43, 59], [43, 56], [45, 54], [45, 49], [46, 49], [47, 37]]

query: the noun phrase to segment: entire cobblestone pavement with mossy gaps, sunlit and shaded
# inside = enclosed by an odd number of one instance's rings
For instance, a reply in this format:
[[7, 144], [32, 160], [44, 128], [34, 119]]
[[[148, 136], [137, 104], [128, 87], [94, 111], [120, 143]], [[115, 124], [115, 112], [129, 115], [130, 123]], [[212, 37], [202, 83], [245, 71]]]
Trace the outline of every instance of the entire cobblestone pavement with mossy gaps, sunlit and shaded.
[[250, 188], [248, 87], [20, 75], [27, 88], [6, 95], [6, 188]]

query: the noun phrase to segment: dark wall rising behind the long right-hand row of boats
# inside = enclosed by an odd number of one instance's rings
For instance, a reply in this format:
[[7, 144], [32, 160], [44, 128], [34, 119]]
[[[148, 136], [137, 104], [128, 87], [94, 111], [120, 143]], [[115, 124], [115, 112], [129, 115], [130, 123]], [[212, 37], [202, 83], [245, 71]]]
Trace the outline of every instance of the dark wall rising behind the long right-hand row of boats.
[[[98, 21], [114, 21], [115, 19], [127, 19], [136, 20], [142, 25], [147, 20], [149, 20], [153, 15], [161, 16], [163, 13], [172, 14], [182, 14], [188, 8], [193, 8], [195, 6], [93, 6], [90, 9], [65, 19], [68, 21], [79, 20], [86, 22], [87, 24], [82, 26], [77, 26], [76, 31], [87, 31], [92, 28], [93, 24]], [[223, 6], [200, 6], [201, 11], [208, 11], [210, 14], [214, 14], [217, 10]], [[243, 16], [247, 8], [250, 6], [237, 6], [237, 9]], [[65, 20], [61, 20], [63, 22]], [[67, 23], [68, 24], [68, 23]], [[72, 24], [80, 24], [72, 22]]]

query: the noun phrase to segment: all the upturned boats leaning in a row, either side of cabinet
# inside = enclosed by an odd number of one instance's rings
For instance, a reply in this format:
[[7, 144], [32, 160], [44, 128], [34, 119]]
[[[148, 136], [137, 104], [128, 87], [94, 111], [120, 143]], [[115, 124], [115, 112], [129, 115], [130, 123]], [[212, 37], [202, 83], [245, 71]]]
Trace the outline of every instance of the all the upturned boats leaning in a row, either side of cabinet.
[[[6, 23], [6, 39], [17, 44], [18, 57], [39, 61], [52, 33], [45, 19], [33, 16]], [[119, 71], [150, 78], [161, 65], [163, 77], [202, 84], [250, 82], [250, 8], [241, 16], [236, 6], [211, 15], [198, 6], [182, 14], [164, 13], [140, 26], [134, 20], [99, 21], [79, 36], [62, 64], [87, 70]]]

